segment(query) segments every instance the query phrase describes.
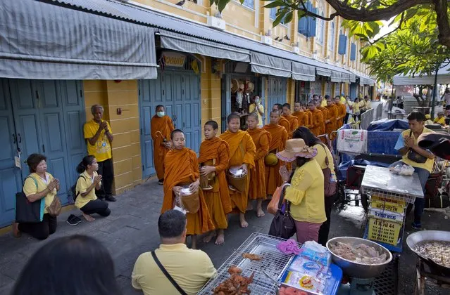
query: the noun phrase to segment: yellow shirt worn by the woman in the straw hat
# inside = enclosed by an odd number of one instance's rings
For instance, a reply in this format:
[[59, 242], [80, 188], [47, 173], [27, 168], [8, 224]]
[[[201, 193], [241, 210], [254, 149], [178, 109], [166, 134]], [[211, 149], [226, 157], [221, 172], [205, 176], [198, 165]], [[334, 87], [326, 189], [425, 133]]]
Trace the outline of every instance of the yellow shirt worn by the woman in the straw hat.
[[291, 186], [286, 188], [285, 199], [292, 203], [291, 215], [294, 220], [311, 223], [323, 223], [327, 220], [323, 173], [315, 159], [295, 170]]

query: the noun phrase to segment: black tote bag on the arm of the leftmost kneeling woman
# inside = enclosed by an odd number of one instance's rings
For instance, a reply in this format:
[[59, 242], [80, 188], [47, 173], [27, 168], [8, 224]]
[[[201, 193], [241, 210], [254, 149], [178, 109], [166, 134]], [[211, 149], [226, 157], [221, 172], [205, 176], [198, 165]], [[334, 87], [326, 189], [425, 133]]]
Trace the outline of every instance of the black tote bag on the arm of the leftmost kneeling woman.
[[[25, 178], [26, 180], [27, 178]], [[37, 188], [37, 181], [33, 178]], [[30, 202], [25, 193], [15, 194], [15, 222], [17, 223], [39, 223], [44, 218], [45, 198]]]

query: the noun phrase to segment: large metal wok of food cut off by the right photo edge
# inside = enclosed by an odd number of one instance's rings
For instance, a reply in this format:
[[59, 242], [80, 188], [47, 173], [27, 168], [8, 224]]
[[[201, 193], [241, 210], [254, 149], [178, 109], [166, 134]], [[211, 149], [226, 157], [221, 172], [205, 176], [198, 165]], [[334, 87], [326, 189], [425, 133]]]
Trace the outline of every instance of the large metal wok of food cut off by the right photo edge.
[[450, 232], [444, 230], [420, 230], [419, 232], [414, 232], [408, 235], [406, 238], [406, 244], [408, 244], [409, 249], [413, 251], [417, 256], [425, 261], [425, 263], [435, 272], [440, 275], [450, 276], [450, 268], [445, 267], [432, 261], [430, 258], [423, 256], [418, 251], [415, 251], [415, 245], [423, 241], [444, 241], [450, 242]]

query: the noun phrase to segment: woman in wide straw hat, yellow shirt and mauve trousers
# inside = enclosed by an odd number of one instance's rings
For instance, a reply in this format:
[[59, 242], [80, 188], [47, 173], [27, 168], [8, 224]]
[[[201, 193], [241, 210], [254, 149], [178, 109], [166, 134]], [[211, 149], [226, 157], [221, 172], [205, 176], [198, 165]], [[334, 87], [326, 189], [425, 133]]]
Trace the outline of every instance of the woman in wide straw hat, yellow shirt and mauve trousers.
[[300, 138], [287, 140], [285, 150], [277, 153], [278, 159], [295, 161], [296, 164], [290, 176], [282, 173], [282, 177], [291, 184], [286, 189], [285, 199], [291, 202], [290, 213], [294, 218], [299, 243], [317, 242], [320, 225], [327, 220], [323, 173], [318, 162], [313, 159], [315, 155], [317, 149], [308, 147]]

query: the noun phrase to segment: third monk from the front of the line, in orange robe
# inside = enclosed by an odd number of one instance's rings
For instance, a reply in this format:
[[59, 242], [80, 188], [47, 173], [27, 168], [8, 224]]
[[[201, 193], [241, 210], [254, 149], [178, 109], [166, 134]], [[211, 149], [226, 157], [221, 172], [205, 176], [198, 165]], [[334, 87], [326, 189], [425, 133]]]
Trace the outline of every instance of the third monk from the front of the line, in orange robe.
[[[228, 129], [220, 134], [220, 138], [225, 140], [230, 146], [230, 161], [228, 167], [239, 166], [244, 171], [249, 171], [255, 167], [256, 147], [249, 133], [240, 128], [239, 114], [232, 113], [228, 115]], [[250, 177], [247, 174], [246, 187], [243, 192], [230, 188], [230, 198], [232, 204], [232, 213], [239, 213], [239, 223], [242, 228], [249, 226], [245, 220], [245, 211], [249, 199]]]

